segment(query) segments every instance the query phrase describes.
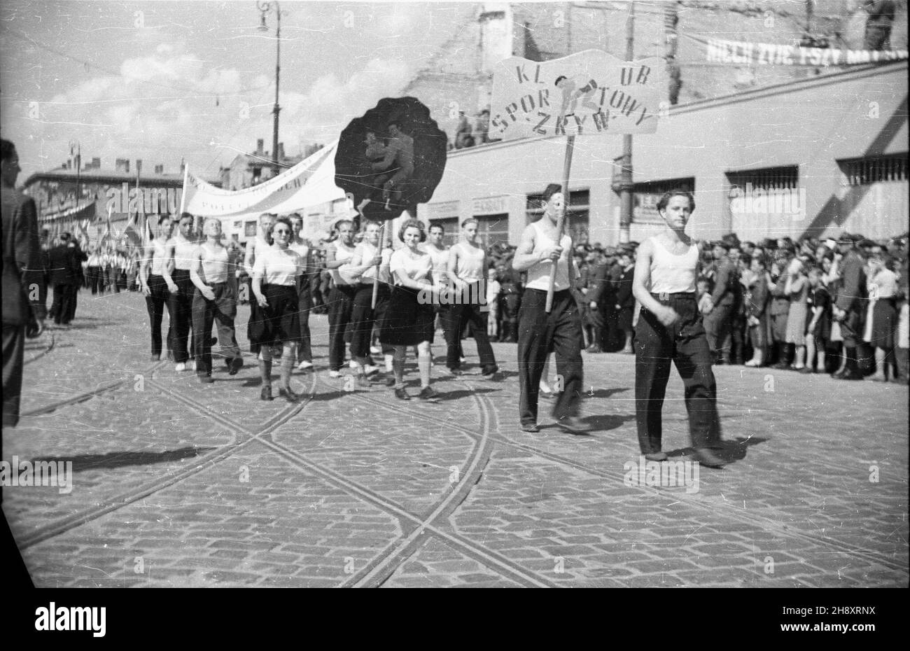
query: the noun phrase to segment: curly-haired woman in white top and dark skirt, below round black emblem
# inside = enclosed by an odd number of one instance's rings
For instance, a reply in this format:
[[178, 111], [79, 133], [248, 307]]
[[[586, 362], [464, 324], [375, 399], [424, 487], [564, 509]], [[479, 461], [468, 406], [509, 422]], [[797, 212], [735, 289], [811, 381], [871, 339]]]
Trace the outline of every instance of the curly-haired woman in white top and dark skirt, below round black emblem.
[[410, 400], [405, 390], [404, 361], [409, 346], [417, 346], [420, 371], [420, 399], [435, 401], [439, 393], [430, 386], [430, 343], [433, 341], [434, 297], [440, 287], [434, 286], [430, 254], [418, 249], [427, 239], [423, 222], [408, 219], [399, 229], [403, 249], [392, 253], [389, 260], [393, 287], [389, 308], [379, 326], [379, 341], [395, 349], [392, 368], [395, 371], [395, 397]]

